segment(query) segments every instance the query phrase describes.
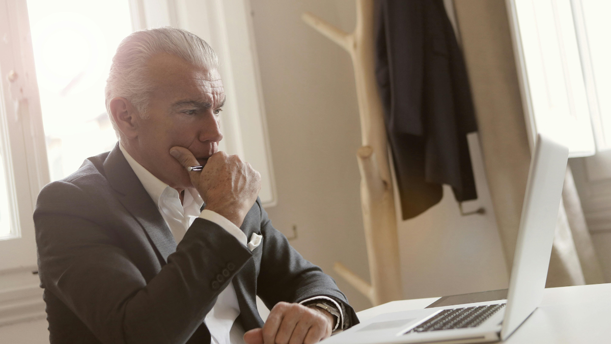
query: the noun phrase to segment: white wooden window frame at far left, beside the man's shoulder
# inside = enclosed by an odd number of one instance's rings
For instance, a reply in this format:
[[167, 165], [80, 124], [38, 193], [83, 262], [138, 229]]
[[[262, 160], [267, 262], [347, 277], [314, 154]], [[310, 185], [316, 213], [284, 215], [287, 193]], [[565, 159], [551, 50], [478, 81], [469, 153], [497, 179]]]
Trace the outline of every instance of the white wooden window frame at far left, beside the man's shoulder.
[[[46, 143], [34, 67], [26, 0], [0, 0], [0, 127], [11, 195], [11, 235], [0, 241], [0, 271], [36, 266], [32, 213], [49, 182]], [[4, 18], [1, 18], [4, 17]], [[12, 77], [9, 77], [12, 73]]]

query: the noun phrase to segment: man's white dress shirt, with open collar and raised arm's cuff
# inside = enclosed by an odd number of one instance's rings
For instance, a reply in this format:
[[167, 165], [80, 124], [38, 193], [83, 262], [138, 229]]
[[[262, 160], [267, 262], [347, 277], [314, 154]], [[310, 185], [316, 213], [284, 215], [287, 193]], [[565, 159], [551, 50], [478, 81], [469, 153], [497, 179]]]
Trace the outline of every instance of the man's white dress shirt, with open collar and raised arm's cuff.
[[[178, 191], [166, 183], [160, 181], [153, 176], [147, 169], [134, 160], [131, 155], [125, 151], [122, 144], [119, 144], [119, 149], [123, 152], [125, 159], [134, 170], [138, 179], [151, 196], [155, 205], [159, 209], [161, 216], [166, 220], [167, 226], [176, 243], [180, 242], [185, 236], [189, 226], [197, 217], [210, 220], [229, 231], [238, 241], [246, 246], [246, 234], [238, 228], [233, 222], [227, 220], [224, 216], [209, 210], [199, 211], [202, 208], [203, 200], [195, 189], [186, 189], [183, 202], [180, 202]], [[240, 324], [235, 323], [236, 318], [240, 315], [240, 306], [238, 305], [238, 297], [235, 294], [233, 284], [229, 283], [227, 288], [221, 291], [214, 307], [206, 315], [204, 322], [210, 330], [211, 340], [213, 344], [242, 344], [244, 343], [244, 330]], [[234, 326], [235, 323], [235, 326]]]

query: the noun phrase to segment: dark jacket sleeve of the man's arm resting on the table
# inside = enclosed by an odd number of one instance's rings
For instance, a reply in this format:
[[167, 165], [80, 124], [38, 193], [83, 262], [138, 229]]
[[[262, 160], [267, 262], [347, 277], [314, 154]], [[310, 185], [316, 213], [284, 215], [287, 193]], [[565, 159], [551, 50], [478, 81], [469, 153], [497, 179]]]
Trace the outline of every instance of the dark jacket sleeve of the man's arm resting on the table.
[[342, 307], [343, 329], [358, 324], [356, 313], [331, 276], [293, 249], [287, 237], [272, 226], [260, 200], [257, 203], [261, 209], [261, 233], [264, 238], [257, 294], [265, 305], [271, 309], [280, 301], [301, 302], [314, 296], [327, 296]]

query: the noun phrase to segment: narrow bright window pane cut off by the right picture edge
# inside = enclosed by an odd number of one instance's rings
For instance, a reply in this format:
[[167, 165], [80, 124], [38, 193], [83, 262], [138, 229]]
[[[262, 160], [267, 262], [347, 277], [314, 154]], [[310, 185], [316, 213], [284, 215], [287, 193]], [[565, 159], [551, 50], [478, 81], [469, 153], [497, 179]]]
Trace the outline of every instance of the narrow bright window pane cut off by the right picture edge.
[[609, 15], [611, 1], [582, 0], [588, 48], [596, 84], [596, 97], [601, 114], [602, 130], [607, 145], [611, 144], [611, 45]]

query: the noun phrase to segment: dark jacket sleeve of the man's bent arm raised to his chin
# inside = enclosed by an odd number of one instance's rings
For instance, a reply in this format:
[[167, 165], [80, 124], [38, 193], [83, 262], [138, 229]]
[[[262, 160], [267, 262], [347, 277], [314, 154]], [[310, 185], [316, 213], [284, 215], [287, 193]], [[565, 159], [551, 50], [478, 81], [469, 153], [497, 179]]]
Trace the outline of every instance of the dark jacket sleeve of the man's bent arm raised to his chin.
[[[252, 253], [196, 219], [158, 274], [145, 280], [92, 195], [53, 182], [34, 212], [42, 285], [102, 343], [185, 343]], [[222, 249], [219, 249], [222, 247]], [[219, 281], [221, 272], [230, 275]]]

